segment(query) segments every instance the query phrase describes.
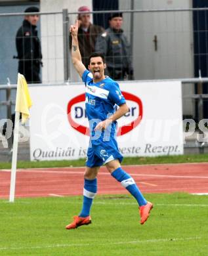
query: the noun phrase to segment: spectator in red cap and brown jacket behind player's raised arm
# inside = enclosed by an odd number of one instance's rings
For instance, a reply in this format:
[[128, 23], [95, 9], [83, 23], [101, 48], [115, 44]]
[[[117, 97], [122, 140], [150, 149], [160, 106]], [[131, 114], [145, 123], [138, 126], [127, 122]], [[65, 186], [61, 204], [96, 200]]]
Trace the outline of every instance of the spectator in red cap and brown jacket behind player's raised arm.
[[[88, 68], [88, 58], [94, 52], [94, 46], [98, 35], [104, 32], [104, 28], [91, 24], [91, 10], [87, 6], [81, 6], [77, 16], [79, 21], [78, 41], [81, 59], [86, 68]], [[72, 49], [72, 36], [70, 36], [70, 49]]]

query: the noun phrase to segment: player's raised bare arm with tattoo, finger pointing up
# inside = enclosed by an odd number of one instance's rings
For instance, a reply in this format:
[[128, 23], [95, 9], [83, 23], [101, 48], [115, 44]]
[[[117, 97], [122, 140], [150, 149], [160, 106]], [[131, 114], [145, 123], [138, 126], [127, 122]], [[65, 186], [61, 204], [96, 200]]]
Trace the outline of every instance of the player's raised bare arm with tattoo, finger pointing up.
[[70, 32], [72, 34], [72, 63], [75, 70], [77, 70], [80, 77], [82, 77], [86, 68], [84, 64], [81, 62], [81, 54], [79, 52], [79, 43], [77, 38], [78, 28], [79, 23], [78, 20], [76, 20], [75, 24], [70, 26]]

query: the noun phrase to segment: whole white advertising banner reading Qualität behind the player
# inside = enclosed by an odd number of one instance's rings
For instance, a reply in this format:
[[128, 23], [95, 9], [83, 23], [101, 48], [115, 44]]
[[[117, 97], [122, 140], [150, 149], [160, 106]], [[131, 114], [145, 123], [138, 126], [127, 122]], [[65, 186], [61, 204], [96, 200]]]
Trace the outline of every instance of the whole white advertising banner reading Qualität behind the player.
[[[183, 154], [182, 95], [178, 81], [119, 83], [129, 112], [118, 122], [123, 156]], [[85, 158], [89, 144], [85, 85], [30, 87], [31, 160]]]

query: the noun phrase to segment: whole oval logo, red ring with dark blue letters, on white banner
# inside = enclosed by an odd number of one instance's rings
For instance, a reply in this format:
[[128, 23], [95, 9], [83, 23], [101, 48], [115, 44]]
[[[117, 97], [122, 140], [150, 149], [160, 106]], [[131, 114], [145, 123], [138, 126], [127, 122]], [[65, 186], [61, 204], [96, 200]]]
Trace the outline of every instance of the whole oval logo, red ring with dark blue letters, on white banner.
[[[122, 92], [122, 95], [127, 101], [132, 102], [133, 106], [130, 106], [130, 111], [125, 114], [124, 117], [122, 117], [124, 118], [125, 122], [121, 126], [118, 125], [117, 136], [125, 135], [135, 129], [139, 125], [143, 116], [142, 100], [138, 96], [135, 96], [131, 93]], [[73, 129], [75, 129], [79, 133], [82, 133], [83, 135], [89, 136], [89, 127], [87, 127], [87, 125], [84, 125], [83, 122], [80, 123], [79, 121], [81, 119], [85, 119], [86, 123], [88, 123], [86, 119], [87, 115], [83, 105], [84, 103], [85, 93], [75, 96], [75, 98], [72, 98], [72, 100], [68, 102], [68, 121]], [[130, 117], [132, 117], [131, 121], [127, 122], [126, 118], [129, 119]]]

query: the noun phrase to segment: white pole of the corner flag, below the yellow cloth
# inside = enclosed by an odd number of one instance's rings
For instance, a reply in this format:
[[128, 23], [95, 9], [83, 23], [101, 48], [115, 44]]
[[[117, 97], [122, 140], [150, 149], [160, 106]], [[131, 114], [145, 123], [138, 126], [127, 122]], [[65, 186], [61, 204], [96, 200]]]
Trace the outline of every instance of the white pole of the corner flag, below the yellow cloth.
[[14, 121], [14, 142], [13, 142], [13, 150], [12, 150], [12, 169], [11, 169], [11, 177], [10, 177], [10, 194], [9, 194], [9, 202], [14, 202], [14, 191], [16, 184], [16, 160], [17, 160], [17, 150], [18, 150], [18, 135], [19, 135], [19, 127], [20, 127], [20, 112], [15, 112], [15, 121]]

